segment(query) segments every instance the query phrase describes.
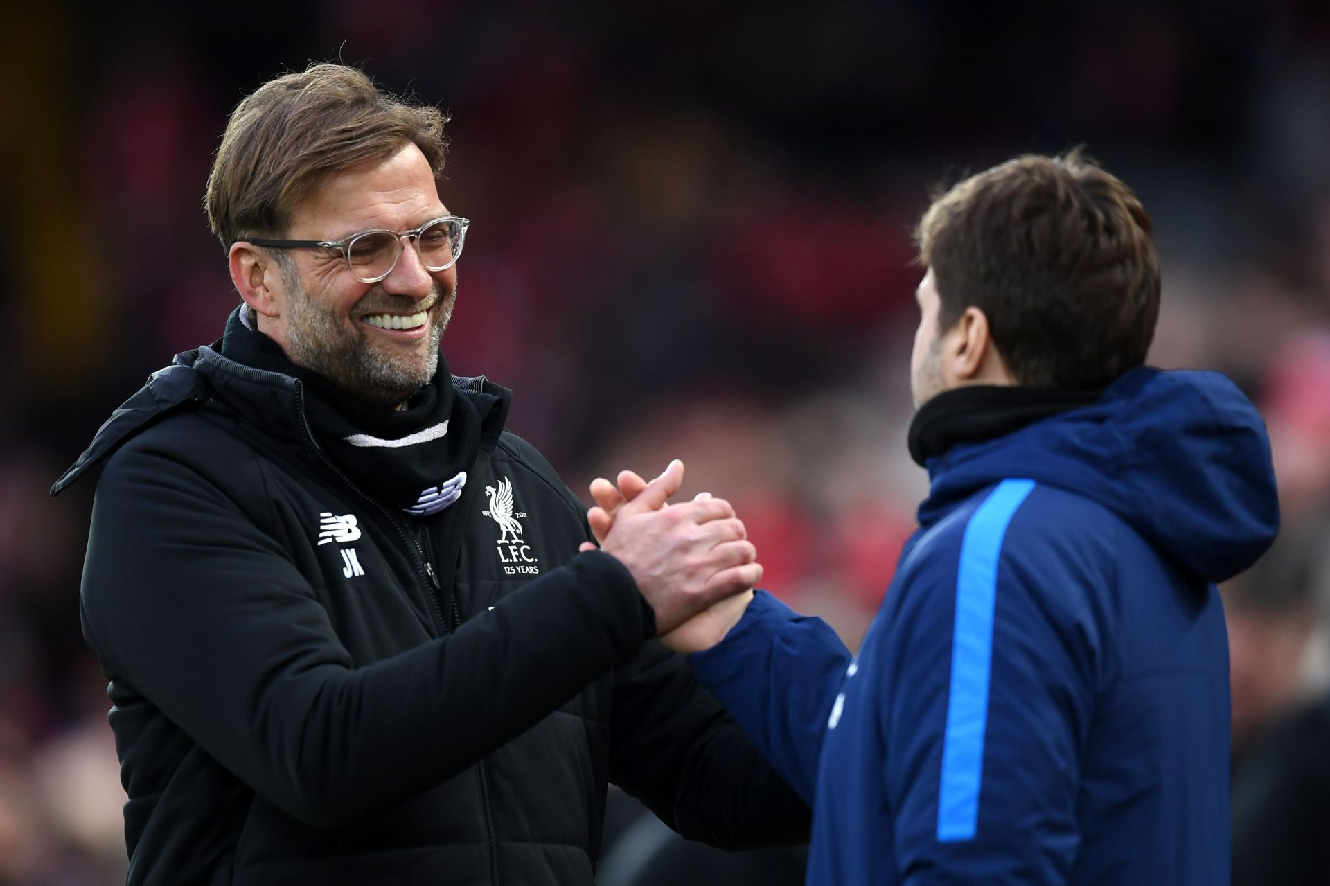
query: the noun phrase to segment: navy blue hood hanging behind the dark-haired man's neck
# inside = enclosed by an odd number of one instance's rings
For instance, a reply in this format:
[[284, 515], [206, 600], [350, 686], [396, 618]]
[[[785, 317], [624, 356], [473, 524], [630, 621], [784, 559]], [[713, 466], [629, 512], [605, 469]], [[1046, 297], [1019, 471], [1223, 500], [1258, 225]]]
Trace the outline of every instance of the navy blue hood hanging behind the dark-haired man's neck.
[[1189, 572], [1222, 581], [1279, 529], [1270, 440], [1256, 407], [1217, 372], [1132, 370], [1097, 402], [928, 459], [920, 525], [1003, 479], [1084, 495]]

